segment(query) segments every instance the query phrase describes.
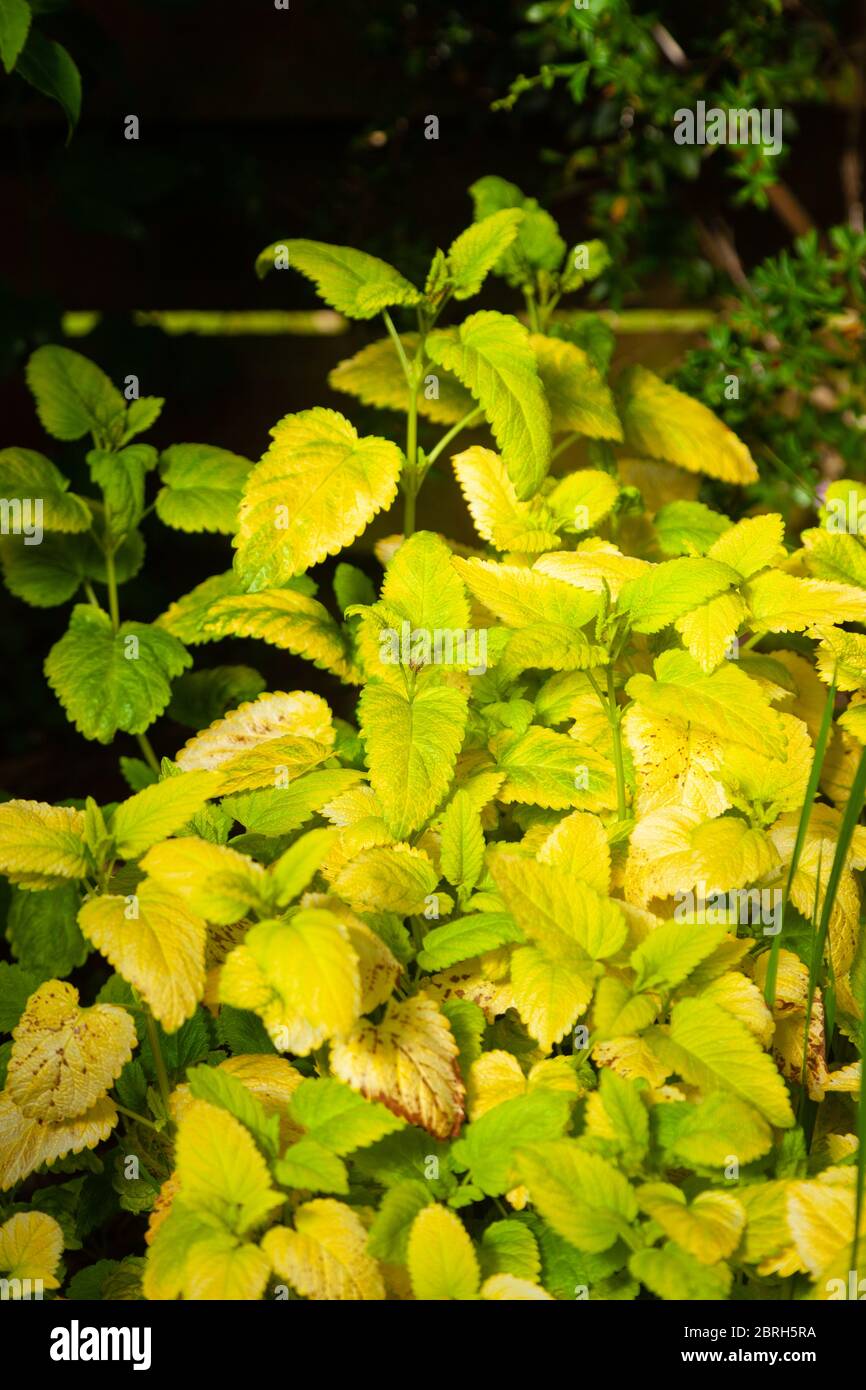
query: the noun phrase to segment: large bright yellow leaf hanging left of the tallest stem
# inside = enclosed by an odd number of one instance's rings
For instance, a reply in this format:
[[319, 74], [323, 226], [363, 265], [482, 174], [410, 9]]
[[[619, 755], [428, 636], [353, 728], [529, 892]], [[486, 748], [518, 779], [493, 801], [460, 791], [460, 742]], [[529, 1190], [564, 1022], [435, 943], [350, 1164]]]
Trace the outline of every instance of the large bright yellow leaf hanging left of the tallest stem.
[[350, 545], [391, 506], [403, 455], [361, 438], [336, 410], [302, 410], [271, 430], [238, 513], [236, 567], [256, 592], [285, 582]]

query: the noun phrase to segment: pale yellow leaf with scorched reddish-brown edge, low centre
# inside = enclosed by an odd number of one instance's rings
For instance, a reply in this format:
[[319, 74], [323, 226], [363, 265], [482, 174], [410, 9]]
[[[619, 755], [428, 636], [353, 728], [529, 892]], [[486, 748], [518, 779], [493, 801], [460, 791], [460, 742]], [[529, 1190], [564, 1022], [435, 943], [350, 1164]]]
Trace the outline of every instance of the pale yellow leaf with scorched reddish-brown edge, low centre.
[[392, 1001], [381, 1023], [359, 1023], [331, 1049], [331, 1070], [435, 1138], [460, 1131], [464, 1088], [457, 1044], [448, 1019], [424, 994]]

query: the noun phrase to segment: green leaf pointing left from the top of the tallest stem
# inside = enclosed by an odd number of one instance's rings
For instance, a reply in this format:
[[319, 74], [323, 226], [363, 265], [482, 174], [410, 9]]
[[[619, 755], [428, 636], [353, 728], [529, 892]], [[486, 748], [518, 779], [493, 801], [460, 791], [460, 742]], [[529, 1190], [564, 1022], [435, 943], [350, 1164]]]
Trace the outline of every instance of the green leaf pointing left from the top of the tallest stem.
[[297, 270], [316, 285], [320, 299], [349, 318], [374, 318], [391, 304], [418, 304], [421, 295], [393, 265], [327, 242], [274, 242], [256, 257], [263, 278], [275, 265]]

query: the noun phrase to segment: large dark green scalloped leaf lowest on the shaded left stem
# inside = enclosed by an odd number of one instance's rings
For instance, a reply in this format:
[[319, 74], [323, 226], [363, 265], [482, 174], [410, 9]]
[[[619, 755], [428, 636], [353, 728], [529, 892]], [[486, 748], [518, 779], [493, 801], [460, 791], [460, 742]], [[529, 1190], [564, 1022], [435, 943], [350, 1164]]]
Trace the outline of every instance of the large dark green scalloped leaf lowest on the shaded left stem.
[[107, 613], [79, 603], [44, 671], [79, 734], [110, 744], [118, 730], [142, 734], [168, 705], [172, 678], [190, 664], [170, 632], [147, 623], [122, 623], [114, 632]]

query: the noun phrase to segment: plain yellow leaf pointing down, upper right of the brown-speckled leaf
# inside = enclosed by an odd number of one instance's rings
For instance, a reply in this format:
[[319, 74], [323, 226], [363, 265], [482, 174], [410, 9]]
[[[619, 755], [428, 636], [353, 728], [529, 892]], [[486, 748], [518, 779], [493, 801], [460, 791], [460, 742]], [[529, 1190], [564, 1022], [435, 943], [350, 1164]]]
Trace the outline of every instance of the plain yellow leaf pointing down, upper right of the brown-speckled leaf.
[[129, 898], [89, 898], [78, 924], [167, 1033], [192, 1017], [204, 991], [207, 927], [181, 898], [145, 878]]

